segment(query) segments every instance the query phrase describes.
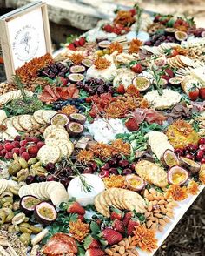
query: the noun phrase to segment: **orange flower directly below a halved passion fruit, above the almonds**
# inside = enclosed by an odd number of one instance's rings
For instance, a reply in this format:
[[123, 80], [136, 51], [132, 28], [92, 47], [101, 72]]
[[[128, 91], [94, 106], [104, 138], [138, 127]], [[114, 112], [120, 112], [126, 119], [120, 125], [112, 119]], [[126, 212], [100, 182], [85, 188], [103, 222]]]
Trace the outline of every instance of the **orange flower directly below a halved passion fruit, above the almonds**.
[[186, 186], [170, 185], [166, 195], [168, 198], [172, 198], [175, 201], [182, 201], [188, 197], [188, 189]]

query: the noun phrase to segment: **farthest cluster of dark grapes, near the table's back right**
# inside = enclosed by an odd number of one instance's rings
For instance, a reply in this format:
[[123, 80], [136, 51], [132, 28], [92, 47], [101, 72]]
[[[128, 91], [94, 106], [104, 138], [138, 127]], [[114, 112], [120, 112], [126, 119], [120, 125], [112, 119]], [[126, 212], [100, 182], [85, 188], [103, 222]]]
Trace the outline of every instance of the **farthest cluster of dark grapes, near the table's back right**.
[[149, 41], [145, 42], [145, 45], [149, 46], [159, 46], [162, 43], [177, 43], [178, 41], [175, 38], [175, 35], [165, 35], [165, 34], [158, 34], [153, 35]]

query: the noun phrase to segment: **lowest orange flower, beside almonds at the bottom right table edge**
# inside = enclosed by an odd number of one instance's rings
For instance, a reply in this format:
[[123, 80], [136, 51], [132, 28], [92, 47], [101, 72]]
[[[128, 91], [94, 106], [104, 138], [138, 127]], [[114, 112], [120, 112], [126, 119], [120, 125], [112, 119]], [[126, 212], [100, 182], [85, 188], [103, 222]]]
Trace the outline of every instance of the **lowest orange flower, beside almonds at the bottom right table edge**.
[[133, 242], [136, 246], [140, 247], [142, 251], [152, 252], [152, 250], [157, 248], [157, 239], [155, 239], [155, 231], [153, 229], [139, 225], [135, 226], [133, 233]]

